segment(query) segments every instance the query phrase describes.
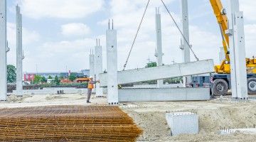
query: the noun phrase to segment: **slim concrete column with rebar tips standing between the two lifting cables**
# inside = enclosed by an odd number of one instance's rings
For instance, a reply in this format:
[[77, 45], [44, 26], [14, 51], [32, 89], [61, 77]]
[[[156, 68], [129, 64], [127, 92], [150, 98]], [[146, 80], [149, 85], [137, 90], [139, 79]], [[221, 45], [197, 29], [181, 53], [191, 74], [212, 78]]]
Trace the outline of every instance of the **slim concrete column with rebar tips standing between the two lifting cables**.
[[[161, 14], [159, 8], [156, 8], [156, 59], [157, 66], [163, 65], [163, 53], [162, 53], [162, 43], [161, 43]], [[157, 80], [157, 87], [163, 87], [164, 80]]]

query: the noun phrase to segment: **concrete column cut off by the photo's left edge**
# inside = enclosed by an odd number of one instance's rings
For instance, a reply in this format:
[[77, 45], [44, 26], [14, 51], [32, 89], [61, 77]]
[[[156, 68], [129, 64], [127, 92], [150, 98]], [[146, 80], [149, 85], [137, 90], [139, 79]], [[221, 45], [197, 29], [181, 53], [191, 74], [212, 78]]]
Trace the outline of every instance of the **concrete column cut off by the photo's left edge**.
[[0, 0], [0, 101], [7, 97], [6, 44], [6, 0]]

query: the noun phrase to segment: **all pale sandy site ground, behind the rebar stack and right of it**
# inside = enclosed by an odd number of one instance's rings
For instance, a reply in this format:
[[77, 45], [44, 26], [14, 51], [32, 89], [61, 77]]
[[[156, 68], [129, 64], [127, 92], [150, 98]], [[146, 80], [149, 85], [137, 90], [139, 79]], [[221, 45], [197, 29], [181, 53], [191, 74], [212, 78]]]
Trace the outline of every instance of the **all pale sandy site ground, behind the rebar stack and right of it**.
[[[0, 109], [15, 107], [38, 107], [49, 105], [107, 105], [107, 98], [92, 96], [86, 103], [85, 94], [36, 94], [23, 98], [9, 96], [9, 102], [0, 103]], [[233, 102], [220, 98], [203, 102], [133, 102], [121, 103], [119, 107], [132, 116], [144, 133], [138, 141], [255, 141], [256, 135], [234, 133], [221, 136], [221, 127], [249, 128], [256, 124], [256, 101]], [[199, 117], [200, 133], [196, 135], [170, 136], [166, 111], [193, 111]]]

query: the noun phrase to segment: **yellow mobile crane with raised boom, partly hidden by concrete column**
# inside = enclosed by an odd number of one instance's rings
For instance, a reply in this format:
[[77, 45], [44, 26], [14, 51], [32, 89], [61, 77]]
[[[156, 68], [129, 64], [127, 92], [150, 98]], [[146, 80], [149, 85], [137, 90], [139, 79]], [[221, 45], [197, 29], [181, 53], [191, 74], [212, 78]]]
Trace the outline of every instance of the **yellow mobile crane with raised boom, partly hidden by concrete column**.
[[[230, 53], [229, 53], [229, 36], [225, 34], [228, 30], [228, 16], [220, 0], [210, 0], [214, 14], [220, 26], [220, 33], [223, 39], [223, 48], [225, 60], [221, 65], [215, 66], [215, 74], [211, 77], [213, 94], [225, 95], [231, 88], [230, 82]], [[247, 67], [247, 87], [249, 94], [256, 94], [256, 58], [246, 58]]]

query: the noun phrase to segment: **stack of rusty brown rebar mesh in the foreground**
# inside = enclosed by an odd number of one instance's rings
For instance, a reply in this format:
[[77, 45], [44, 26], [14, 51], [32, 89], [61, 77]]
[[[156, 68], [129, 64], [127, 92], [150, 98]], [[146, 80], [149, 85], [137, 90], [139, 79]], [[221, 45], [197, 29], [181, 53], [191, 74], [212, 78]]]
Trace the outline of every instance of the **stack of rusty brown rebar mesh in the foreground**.
[[142, 130], [119, 107], [0, 110], [0, 141], [136, 141]]

